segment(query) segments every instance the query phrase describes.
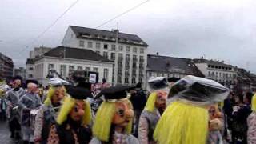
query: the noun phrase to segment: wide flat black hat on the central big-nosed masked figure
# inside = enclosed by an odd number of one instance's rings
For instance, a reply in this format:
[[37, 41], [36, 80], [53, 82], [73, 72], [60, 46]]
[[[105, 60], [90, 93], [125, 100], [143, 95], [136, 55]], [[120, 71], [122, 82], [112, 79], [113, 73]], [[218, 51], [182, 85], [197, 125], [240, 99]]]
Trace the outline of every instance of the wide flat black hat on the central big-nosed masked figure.
[[95, 98], [104, 96], [107, 100], [118, 100], [127, 97], [127, 90], [132, 90], [132, 86], [111, 86], [103, 89]]

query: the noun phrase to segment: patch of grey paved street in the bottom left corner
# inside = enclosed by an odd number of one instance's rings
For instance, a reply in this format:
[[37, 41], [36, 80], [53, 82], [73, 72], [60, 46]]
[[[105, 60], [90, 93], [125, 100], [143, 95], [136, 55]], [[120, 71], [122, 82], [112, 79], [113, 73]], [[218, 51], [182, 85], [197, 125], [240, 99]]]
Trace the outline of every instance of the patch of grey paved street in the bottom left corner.
[[15, 143], [10, 138], [10, 133], [9, 133], [9, 130], [7, 127], [7, 123], [3, 122], [3, 121], [0, 121], [0, 143], [2, 143], [2, 144], [14, 144]]

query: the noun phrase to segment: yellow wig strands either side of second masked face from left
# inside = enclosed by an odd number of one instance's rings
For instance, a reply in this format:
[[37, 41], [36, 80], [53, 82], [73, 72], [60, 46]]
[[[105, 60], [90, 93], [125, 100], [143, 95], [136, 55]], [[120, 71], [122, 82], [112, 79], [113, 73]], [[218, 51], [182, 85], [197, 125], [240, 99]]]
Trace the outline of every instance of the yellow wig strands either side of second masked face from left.
[[[62, 107], [59, 111], [58, 117], [57, 117], [57, 123], [61, 125], [63, 122], [66, 121], [66, 118], [68, 114], [70, 114], [70, 111], [74, 107], [75, 99], [71, 98], [70, 96], [66, 97], [64, 99], [64, 102], [62, 104]], [[85, 114], [82, 118], [82, 125], [88, 125], [91, 122], [91, 111], [90, 111], [90, 103], [85, 100]]]

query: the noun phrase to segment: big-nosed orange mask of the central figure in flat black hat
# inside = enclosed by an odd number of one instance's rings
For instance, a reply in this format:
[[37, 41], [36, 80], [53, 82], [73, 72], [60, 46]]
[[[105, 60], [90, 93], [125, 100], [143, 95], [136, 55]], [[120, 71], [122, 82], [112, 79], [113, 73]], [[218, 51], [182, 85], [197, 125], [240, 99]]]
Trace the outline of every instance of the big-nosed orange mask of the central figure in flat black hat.
[[117, 126], [127, 126], [134, 118], [134, 110], [128, 100], [115, 103], [115, 114], [112, 123]]

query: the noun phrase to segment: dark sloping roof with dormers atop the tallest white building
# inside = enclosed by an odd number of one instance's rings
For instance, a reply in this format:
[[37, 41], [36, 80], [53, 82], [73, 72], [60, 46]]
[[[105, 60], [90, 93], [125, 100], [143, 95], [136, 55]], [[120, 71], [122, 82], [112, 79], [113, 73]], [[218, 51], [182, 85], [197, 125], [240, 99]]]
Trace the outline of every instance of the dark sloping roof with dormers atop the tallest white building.
[[[115, 42], [115, 38], [118, 30], [108, 31], [108, 30], [97, 30], [81, 26], [70, 26], [74, 31], [77, 38], [90, 38], [90, 39], [100, 39], [103, 41]], [[138, 35], [135, 34], [125, 34], [118, 32], [118, 42], [133, 44], [138, 46], [148, 46]]]

